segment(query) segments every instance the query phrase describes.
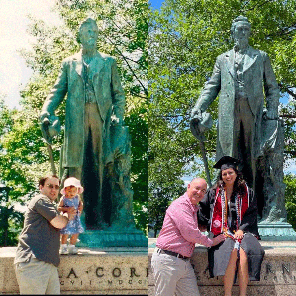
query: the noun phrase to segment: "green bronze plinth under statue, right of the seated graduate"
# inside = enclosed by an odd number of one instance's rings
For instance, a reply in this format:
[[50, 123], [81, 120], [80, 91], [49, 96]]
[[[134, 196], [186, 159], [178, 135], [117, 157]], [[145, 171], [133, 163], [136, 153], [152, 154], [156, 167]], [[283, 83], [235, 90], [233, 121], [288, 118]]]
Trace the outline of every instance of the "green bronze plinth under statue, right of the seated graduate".
[[262, 241], [265, 242], [295, 242], [296, 232], [287, 222], [258, 223], [258, 231]]

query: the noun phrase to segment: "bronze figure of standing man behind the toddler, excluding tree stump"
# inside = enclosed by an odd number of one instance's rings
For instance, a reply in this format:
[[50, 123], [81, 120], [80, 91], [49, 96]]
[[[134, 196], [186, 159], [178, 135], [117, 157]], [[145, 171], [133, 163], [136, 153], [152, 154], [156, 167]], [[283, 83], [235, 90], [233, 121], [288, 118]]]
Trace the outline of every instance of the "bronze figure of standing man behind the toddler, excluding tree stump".
[[78, 36], [81, 50], [62, 61], [57, 81], [43, 104], [40, 119], [47, 124], [42, 124], [42, 133], [51, 144], [54, 111], [67, 94], [62, 181], [75, 177], [85, 187], [86, 229], [106, 229], [111, 224], [110, 213], [108, 218], [104, 212], [111, 210], [103, 209], [111, 202], [111, 194], [104, 201], [102, 190], [107, 168], [114, 163], [110, 126], [123, 128], [125, 96], [115, 59], [96, 49], [96, 21], [84, 20]]

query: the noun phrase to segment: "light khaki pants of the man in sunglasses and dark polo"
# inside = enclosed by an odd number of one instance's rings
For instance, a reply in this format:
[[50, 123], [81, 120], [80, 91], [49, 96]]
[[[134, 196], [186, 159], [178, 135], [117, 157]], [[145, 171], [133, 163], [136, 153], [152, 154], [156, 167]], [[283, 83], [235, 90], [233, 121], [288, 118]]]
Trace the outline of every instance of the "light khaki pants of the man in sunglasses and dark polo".
[[20, 294], [60, 294], [57, 267], [31, 257], [29, 262], [15, 264], [15, 275]]

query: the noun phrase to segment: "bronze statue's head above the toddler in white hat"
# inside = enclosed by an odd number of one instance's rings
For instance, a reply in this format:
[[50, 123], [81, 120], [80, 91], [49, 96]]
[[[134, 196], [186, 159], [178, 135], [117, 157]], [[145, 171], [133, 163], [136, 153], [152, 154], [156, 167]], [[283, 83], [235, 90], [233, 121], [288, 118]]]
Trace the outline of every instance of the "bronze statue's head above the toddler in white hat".
[[87, 18], [79, 25], [78, 37], [83, 47], [96, 47], [98, 39], [98, 26], [96, 21]]

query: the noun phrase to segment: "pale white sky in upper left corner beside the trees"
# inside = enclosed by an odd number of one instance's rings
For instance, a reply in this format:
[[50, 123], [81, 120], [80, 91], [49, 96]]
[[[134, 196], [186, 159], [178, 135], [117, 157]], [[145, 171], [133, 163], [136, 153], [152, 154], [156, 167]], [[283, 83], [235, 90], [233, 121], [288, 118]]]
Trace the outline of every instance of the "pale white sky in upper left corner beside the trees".
[[6, 104], [18, 107], [19, 90], [32, 74], [25, 66], [25, 60], [17, 53], [18, 49], [30, 49], [33, 40], [26, 29], [30, 21], [28, 14], [44, 20], [49, 25], [62, 21], [51, 12], [55, 0], [7, 0], [0, 8], [0, 92], [7, 95]]

